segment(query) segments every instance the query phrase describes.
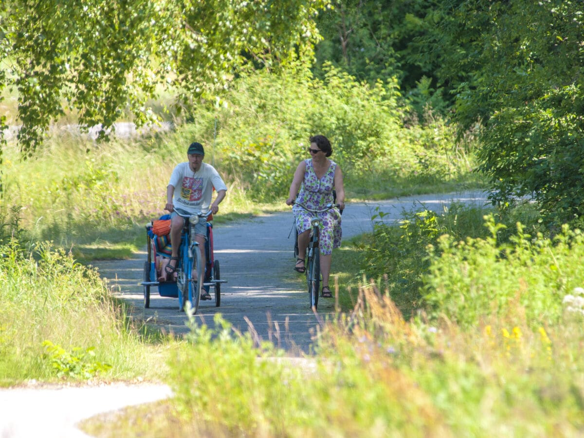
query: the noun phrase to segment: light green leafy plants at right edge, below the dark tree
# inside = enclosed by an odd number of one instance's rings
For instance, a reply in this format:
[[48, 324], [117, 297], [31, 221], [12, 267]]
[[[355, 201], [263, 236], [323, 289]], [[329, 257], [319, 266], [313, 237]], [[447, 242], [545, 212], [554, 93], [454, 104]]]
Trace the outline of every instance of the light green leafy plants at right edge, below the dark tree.
[[499, 242], [505, 225], [492, 216], [485, 220], [490, 237], [444, 235], [430, 247], [430, 267], [423, 277], [429, 314], [462, 326], [492, 317], [525, 319], [531, 327], [557, 324], [564, 296], [584, 280], [582, 233], [564, 225], [553, 240], [532, 237], [518, 223], [509, 241]]

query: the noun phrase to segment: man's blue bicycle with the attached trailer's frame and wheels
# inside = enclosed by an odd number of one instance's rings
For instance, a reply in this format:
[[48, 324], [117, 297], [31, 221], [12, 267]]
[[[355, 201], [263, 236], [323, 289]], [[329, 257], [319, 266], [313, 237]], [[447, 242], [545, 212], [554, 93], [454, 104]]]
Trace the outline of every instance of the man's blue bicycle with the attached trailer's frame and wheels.
[[158, 292], [162, 297], [179, 298], [179, 310], [185, 310], [188, 300], [193, 314], [196, 314], [201, 299], [201, 288], [203, 286], [214, 287], [215, 306], [218, 307], [221, 303], [221, 283], [226, 283], [227, 281], [220, 280], [219, 260], [214, 259], [213, 225], [207, 222], [207, 241], [205, 244], [207, 263], [205, 267], [201, 263], [199, 242], [194, 238], [195, 225], [199, 223], [200, 218], [208, 218], [210, 214], [178, 214], [185, 219], [185, 225], [180, 233], [176, 281], [159, 282], [152, 280], [158, 276], [156, 251], [152, 239], [148, 237], [148, 260], [144, 265], [144, 281], [142, 282], [144, 286], [144, 307], [150, 307], [150, 287], [158, 286]]

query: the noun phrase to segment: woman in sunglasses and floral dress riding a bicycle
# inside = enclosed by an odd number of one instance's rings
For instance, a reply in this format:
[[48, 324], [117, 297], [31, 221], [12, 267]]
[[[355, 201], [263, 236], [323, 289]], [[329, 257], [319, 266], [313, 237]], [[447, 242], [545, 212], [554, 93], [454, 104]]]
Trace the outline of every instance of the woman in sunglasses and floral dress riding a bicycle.
[[[328, 157], [332, 154], [331, 142], [324, 135], [310, 137], [308, 148], [312, 158], [305, 159], [298, 164], [294, 178], [290, 185], [290, 195], [286, 200], [289, 206], [295, 200], [308, 208], [321, 209], [326, 204], [333, 203], [333, 190], [336, 191], [336, 203], [340, 209], [345, 208], [345, 188], [343, 187], [343, 172], [340, 167]], [[296, 196], [298, 194], [298, 196]], [[304, 259], [306, 248], [310, 239], [310, 220], [312, 214], [300, 206], [292, 208], [298, 230], [298, 259], [294, 269], [297, 272], [305, 271]], [[340, 229], [340, 214], [336, 210], [328, 210], [319, 213], [322, 221], [321, 230], [321, 273], [322, 273], [322, 297], [331, 298], [329, 288], [329, 274], [331, 273], [332, 249], [340, 247], [342, 232]]]

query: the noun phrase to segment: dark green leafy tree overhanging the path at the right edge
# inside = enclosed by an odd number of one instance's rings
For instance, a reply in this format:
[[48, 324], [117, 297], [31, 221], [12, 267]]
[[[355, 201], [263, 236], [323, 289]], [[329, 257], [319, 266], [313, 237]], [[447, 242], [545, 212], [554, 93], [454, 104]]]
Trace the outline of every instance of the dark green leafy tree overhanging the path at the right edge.
[[[444, 1], [426, 38], [457, 91], [461, 127], [480, 127], [492, 200], [532, 197], [550, 221], [584, 209], [584, 6], [572, 0]], [[423, 44], [423, 41], [420, 41]]]

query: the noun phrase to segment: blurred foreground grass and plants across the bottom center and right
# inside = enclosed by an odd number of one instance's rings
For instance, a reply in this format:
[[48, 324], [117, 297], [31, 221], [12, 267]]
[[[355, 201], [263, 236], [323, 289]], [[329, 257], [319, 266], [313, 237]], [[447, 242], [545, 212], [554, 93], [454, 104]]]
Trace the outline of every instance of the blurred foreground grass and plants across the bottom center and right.
[[169, 364], [172, 408], [158, 408], [166, 418], [144, 430], [481, 437], [573, 436], [584, 427], [581, 318], [536, 329], [496, 317], [468, 328], [406, 321], [388, 290], [367, 284], [350, 315], [322, 327], [318, 355], [301, 361], [274, 359], [281, 352], [272, 345], [258, 350], [217, 322], [214, 331], [192, 325]]

